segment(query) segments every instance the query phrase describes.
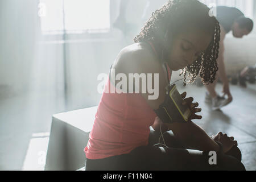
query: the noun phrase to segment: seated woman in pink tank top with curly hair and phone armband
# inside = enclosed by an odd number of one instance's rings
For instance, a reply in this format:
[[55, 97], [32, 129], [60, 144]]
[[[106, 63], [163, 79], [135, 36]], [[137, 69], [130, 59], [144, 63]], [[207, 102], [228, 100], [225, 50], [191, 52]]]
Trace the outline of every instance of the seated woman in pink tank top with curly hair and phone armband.
[[[86, 170], [245, 170], [233, 137], [209, 137], [191, 121], [201, 119], [192, 97], [181, 94], [192, 113], [188, 122], [166, 119], [159, 112], [172, 71], [183, 69], [184, 84], [195, 81], [199, 73], [204, 84], [215, 80], [220, 26], [208, 11], [196, 0], [168, 1], [147, 20], [135, 43], [119, 52], [84, 148]], [[157, 73], [159, 97], [150, 100], [152, 93], [141, 89], [127, 93], [125, 85], [121, 93], [110, 93], [117, 87], [114, 73], [127, 78], [129, 73]], [[154, 79], [147, 81], [155, 85]], [[164, 144], [158, 144], [160, 133]], [[217, 152], [214, 165], [209, 164], [209, 151]]]

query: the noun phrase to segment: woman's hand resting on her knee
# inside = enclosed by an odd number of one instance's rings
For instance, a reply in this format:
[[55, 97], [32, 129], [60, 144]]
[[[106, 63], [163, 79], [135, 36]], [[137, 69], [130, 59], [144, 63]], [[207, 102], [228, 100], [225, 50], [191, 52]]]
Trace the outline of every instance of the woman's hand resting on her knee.
[[220, 142], [223, 145], [223, 152], [228, 152], [233, 146], [237, 146], [237, 141], [234, 140], [234, 137], [228, 137], [226, 134], [221, 132], [213, 135], [212, 138], [214, 141]]

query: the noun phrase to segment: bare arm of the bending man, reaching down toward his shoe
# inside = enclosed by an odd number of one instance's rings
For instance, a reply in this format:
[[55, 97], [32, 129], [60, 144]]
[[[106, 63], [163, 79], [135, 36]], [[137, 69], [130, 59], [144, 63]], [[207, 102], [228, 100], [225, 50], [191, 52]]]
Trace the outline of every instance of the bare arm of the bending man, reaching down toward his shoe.
[[221, 27], [221, 37], [220, 37], [220, 49], [219, 49], [219, 53], [218, 53], [218, 59], [217, 59], [217, 63], [218, 63], [218, 76], [220, 77], [222, 83], [223, 83], [223, 93], [225, 95], [228, 96], [229, 100], [232, 101], [232, 94], [230, 93], [229, 90], [229, 81], [228, 81], [228, 77], [226, 75], [226, 69], [225, 69], [225, 63], [224, 63], [224, 39], [225, 39], [225, 35], [226, 35], [226, 31], [224, 30], [224, 28], [222, 26]]

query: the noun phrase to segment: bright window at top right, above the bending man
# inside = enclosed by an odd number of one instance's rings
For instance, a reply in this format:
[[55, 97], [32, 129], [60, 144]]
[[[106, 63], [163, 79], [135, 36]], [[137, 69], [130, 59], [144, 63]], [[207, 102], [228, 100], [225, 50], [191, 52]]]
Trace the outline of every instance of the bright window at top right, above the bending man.
[[253, 18], [253, 0], [199, 0], [205, 3], [205, 5], [210, 5], [214, 3], [217, 6], [229, 6], [236, 7], [242, 11], [245, 16]]

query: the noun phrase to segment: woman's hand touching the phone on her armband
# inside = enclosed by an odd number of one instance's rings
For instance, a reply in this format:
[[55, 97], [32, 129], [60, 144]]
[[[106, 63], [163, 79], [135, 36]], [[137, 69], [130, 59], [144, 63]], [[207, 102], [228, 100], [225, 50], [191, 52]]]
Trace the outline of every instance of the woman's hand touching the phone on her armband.
[[196, 115], [195, 113], [200, 113], [201, 112], [201, 108], [197, 108], [199, 106], [198, 102], [193, 102], [193, 97], [188, 97], [185, 98], [187, 96], [187, 92], [183, 92], [181, 94], [181, 97], [184, 99], [183, 105], [187, 104], [189, 109], [191, 110], [191, 116], [189, 117], [189, 120], [192, 119], [202, 119], [201, 115]]

